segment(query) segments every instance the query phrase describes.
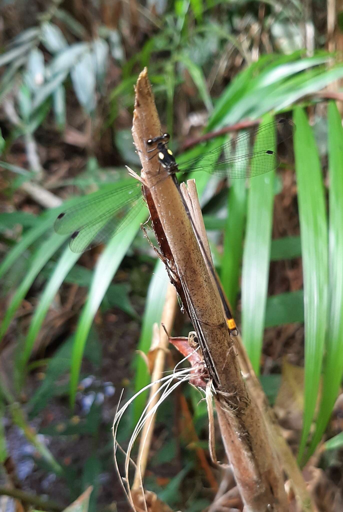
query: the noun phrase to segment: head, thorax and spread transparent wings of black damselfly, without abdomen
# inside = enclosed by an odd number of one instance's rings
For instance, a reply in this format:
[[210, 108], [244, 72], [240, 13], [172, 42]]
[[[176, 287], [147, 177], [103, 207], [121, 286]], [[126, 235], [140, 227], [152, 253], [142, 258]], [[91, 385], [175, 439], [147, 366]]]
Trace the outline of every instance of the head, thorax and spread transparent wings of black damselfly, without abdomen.
[[[294, 130], [292, 121], [279, 119], [182, 162], [176, 162], [167, 147], [168, 134], [147, 139], [147, 151], [162, 166], [154, 186], [177, 172], [205, 171], [229, 180], [268, 173], [279, 166], [274, 152], [276, 144], [292, 137]], [[62, 212], [54, 228], [59, 234], [71, 234], [69, 245], [73, 252], [83, 252], [125, 229], [143, 204], [139, 182], [128, 179], [124, 185], [123, 182], [120, 186], [114, 184], [110, 190], [99, 190], [86, 196], [76, 206]]]

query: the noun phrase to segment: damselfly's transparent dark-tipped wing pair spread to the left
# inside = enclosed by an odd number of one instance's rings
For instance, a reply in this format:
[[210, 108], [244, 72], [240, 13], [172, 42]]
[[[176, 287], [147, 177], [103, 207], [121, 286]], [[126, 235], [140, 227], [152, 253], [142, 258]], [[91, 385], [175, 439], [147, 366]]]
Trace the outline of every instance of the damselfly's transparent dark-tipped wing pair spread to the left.
[[86, 196], [57, 217], [54, 229], [59, 234], [71, 234], [73, 252], [83, 252], [114, 236], [124, 228], [123, 221], [132, 208], [137, 203], [140, 207], [144, 204], [136, 180], [125, 180], [108, 188]]

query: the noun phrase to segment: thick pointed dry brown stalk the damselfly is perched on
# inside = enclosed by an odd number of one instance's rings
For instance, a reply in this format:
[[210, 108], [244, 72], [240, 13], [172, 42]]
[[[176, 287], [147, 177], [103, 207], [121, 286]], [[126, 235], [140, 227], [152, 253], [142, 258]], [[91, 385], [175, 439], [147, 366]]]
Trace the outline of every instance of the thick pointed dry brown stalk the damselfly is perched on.
[[[246, 512], [286, 511], [288, 504], [280, 465], [270, 445], [266, 424], [247, 392], [218, 292], [213, 287], [178, 190], [171, 178], [154, 186], [159, 163], [147, 153], [146, 140], [160, 133], [145, 69], [136, 84], [132, 135], [143, 166], [142, 178], [150, 189], [159, 218], [158, 231], [163, 229], [164, 240], [159, 242], [168, 248], [167, 258], [172, 259], [169, 263], [177, 273], [175, 284], [181, 287], [181, 297], [213, 378], [226, 453]], [[158, 232], [156, 236], [160, 238]]]

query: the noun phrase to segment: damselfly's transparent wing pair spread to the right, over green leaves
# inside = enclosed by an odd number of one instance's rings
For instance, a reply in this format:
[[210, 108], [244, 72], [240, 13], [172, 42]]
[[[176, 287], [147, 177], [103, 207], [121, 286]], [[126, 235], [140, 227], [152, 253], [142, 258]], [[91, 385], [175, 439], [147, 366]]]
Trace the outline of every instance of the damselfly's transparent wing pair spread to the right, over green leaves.
[[292, 137], [295, 125], [288, 119], [272, 121], [219, 145], [203, 157], [178, 165], [181, 172], [204, 170], [224, 178], [239, 179], [268, 173], [279, 165], [273, 151]]

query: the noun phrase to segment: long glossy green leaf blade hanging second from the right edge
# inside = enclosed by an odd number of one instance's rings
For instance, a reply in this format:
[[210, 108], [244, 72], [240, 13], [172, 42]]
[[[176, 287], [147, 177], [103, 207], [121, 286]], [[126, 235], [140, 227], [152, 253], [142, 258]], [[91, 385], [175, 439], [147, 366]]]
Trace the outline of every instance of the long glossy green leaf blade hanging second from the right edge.
[[314, 416], [324, 354], [328, 302], [328, 229], [318, 151], [305, 113], [300, 108], [294, 112], [294, 122], [297, 127], [294, 153], [305, 306], [305, 404], [298, 454], [298, 460], [302, 462]]

